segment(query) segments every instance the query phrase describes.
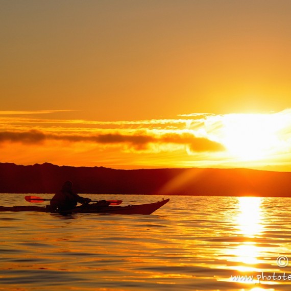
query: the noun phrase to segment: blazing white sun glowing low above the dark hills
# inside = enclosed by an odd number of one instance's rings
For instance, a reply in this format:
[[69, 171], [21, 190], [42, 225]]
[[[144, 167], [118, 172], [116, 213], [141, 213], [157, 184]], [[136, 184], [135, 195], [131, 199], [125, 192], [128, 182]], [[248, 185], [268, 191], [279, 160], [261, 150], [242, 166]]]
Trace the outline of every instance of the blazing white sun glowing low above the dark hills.
[[221, 141], [228, 152], [241, 161], [264, 159], [280, 143], [282, 120], [272, 114], [227, 114], [224, 116]]

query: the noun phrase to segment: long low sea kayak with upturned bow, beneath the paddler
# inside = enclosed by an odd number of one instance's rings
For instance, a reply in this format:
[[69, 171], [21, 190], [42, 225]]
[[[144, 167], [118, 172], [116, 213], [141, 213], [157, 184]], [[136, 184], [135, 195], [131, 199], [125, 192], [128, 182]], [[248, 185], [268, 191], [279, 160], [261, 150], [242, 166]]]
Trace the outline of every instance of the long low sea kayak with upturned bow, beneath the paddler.
[[[100, 206], [97, 203], [88, 204], [86, 206], [79, 206], [68, 211], [62, 211], [62, 213], [108, 213], [108, 214], [151, 214], [163, 205], [165, 205], [169, 199], [165, 199], [159, 202], [139, 205], [125, 205], [125, 206]], [[0, 206], [0, 212], [3, 211], [33, 211], [33, 212], [52, 212], [49, 209], [41, 206], [13, 206], [6, 207]]]

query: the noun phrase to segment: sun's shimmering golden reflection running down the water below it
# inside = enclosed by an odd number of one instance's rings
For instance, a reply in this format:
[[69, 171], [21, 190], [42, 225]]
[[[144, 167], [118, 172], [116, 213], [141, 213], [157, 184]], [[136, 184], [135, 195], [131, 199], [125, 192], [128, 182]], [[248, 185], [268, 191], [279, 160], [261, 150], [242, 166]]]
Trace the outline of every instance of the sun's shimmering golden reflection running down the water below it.
[[[289, 290], [289, 282], [284, 278], [285, 273], [289, 275], [288, 270], [276, 264], [280, 250], [284, 253], [278, 241], [282, 240], [281, 234], [285, 235], [285, 229], [274, 223], [278, 220], [276, 211], [281, 207], [278, 200], [236, 197], [232, 203], [231, 211], [225, 213], [226, 220], [233, 227], [229, 240], [225, 240], [229, 248], [223, 250], [226, 263], [216, 267], [229, 273], [217, 280], [236, 284], [246, 291], [275, 291], [274, 286]], [[287, 200], [284, 203], [288, 205]], [[270, 241], [273, 231], [276, 239]]]

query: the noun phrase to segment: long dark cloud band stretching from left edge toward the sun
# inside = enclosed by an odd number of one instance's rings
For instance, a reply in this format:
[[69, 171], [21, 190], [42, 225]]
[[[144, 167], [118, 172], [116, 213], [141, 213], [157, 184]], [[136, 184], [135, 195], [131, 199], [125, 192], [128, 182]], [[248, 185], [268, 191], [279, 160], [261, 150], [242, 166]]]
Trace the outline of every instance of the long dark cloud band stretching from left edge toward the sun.
[[153, 134], [147, 131], [137, 131], [134, 134], [122, 134], [118, 132], [107, 134], [54, 134], [39, 130], [25, 132], [5, 131], [0, 132], [0, 142], [20, 142], [23, 144], [38, 144], [46, 140], [61, 140], [69, 142], [93, 142], [100, 144], [128, 144], [137, 150], [148, 148], [149, 144], [182, 144], [189, 146], [196, 152], [223, 151], [222, 144], [204, 137], [196, 137], [187, 132]]

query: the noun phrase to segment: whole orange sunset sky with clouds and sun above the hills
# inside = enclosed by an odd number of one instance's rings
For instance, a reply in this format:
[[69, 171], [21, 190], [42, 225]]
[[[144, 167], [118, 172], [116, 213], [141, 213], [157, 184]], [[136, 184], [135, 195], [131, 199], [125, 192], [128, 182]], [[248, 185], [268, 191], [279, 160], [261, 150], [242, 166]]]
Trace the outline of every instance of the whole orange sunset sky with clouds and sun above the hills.
[[291, 171], [291, 1], [0, 1], [0, 162]]

